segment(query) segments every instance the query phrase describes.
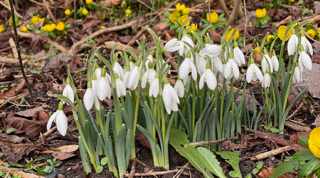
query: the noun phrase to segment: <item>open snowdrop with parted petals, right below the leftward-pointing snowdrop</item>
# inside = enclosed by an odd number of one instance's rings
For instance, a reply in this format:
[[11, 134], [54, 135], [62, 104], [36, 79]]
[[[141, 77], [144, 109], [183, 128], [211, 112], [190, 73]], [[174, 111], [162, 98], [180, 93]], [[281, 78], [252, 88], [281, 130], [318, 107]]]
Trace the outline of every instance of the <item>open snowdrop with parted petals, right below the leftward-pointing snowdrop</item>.
[[190, 51], [188, 51], [186, 58], [184, 59], [184, 61], [180, 65], [179, 77], [184, 79], [188, 76], [189, 72], [191, 72], [192, 78], [194, 80], [196, 80], [197, 79], [197, 69], [196, 69], [196, 66], [190, 57], [191, 57], [191, 53], [190, 53]]

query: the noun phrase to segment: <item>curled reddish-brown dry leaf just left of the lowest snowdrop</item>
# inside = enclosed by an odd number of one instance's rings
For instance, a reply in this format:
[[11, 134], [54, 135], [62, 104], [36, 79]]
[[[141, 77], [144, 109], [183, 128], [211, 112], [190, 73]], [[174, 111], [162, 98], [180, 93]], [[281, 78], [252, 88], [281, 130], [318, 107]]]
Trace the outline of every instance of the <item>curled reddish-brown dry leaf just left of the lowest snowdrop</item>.
[[22, 117], [11, 117], [6, 118], [5, 121], [7, 125], [25, 132], [27, 136], [32, 138], [40, 132], [46, 131], [49, 118], [50, 116], [47, 113], [37, 111], [32, 120]]

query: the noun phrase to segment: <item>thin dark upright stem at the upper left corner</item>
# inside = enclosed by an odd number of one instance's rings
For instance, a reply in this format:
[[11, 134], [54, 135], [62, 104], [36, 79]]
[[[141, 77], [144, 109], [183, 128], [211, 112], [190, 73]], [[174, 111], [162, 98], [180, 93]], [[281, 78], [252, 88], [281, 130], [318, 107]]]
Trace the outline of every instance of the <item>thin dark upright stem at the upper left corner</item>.
[[11, 7], [11, 17], [12, 17], [12, 25], [13, 25], [13, 31], [14, 31], [14, 36], [16, 37], [16, 45], [17, 45], [17, 52], [18, 52], [18, 57], [19, 57], [19, 63], [20, 63], [20, 70], [21, 70], [21, 73], [22, 73], [22, 76], [27, 84], [27, 87], [28, 87], [28, 91], [29, 91], [29, 94], [31, 94], [31, 87], [30, 87], [30, 84], [29, 84], [29, 81], [26, 77], [26, 73], [24, 72], [24, 69], [23, 69], [23, 64], [22, 64], [22, 59], [21, 59], [21, 54], [20, 54], [20, 45], [19, 45], [19, 36], [18, 36], [18, 33], [17, 33], [17, 27], [16, 27], [16, 20], [14, 18], [14, 7], [13, 7], [13, 4], [12, 4], [12, 0], [9, 0], [9, 3], [10, 3], [10, 7]]

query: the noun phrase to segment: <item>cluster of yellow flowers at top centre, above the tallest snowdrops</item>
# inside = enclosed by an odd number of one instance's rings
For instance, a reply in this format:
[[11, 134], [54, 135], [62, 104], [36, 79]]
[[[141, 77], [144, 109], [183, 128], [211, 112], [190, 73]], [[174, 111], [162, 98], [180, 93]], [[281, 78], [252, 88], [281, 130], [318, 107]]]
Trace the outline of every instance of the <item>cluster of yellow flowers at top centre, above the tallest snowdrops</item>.
[[[176, 5], [177, 11], [172, 11], [169, 15], [169, 19], [173, 24], [179, 23], [182, 25], [189, 17], [188, 13], [190, 12], [190, 8], [186, 8], [184, 4], [180, 5], [179, 3]], [[186, 26], [190, 25], [190, 20], [188, 20]]]

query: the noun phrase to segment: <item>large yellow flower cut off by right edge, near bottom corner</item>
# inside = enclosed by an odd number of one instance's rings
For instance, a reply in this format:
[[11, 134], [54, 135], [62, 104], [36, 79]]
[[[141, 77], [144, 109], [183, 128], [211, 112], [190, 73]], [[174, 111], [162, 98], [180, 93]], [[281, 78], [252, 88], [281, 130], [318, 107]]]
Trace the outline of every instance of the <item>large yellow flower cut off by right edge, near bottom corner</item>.
[[308, 144], [311, 153], [320, 158], [320, 127], [316, 127], [311, 131]]

